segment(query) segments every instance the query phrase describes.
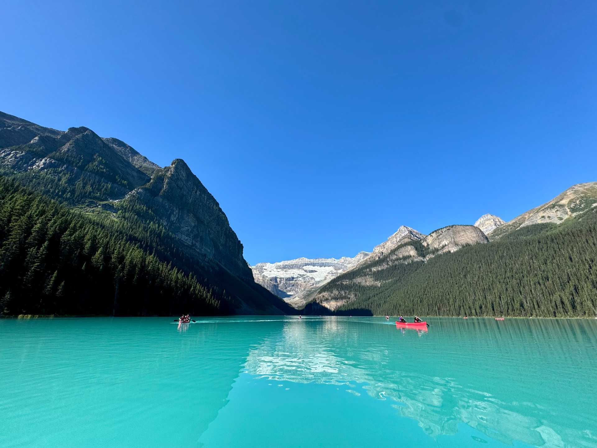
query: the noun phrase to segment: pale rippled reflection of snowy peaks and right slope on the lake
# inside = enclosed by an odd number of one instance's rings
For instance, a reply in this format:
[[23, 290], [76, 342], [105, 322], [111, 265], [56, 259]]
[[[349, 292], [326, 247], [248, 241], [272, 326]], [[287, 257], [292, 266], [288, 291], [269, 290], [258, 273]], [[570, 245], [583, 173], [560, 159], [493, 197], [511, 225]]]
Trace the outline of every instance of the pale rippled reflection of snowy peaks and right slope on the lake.
[[[592, 388], [595, 380], [589, 351], [597, 344], [586, 324], [438, 319], [427, 333], [371, 318], [289, 320], [281, 334], [251, 349], [245, 368], [261, 378], [345, 385], [389, 399], [433, 438], [456, 434], [464, 423], [504, 444], [595, 447], [597, 403], [581, 414], [574, 405], [566, 409], [568, 398], [584, 395], [579, 383]], [[579, 352], [593, 358], [584, 371], [571, 368]], [[562, 365], [576, 386], [562, 383]], [[590, 403], [590, 393], [579, 398]]]

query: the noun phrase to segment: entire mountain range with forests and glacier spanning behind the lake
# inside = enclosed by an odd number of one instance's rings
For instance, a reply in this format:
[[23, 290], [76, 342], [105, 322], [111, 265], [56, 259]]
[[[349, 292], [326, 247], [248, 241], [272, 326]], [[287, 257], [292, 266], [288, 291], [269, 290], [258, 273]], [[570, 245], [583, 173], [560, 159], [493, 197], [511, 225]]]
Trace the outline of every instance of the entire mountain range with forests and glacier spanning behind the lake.
[[403, 225], [354, 257], [251, 267], [183, 160], [0, 112], [0, 314], [589, 317], [596, 205], [581, 183], [509, 222]]

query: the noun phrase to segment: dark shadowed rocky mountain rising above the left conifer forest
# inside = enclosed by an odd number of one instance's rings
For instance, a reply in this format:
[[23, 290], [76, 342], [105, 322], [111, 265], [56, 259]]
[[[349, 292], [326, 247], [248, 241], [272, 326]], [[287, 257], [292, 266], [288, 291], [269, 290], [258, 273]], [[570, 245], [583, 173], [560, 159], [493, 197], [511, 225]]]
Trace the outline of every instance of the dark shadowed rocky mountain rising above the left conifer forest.
[[97, 222], [109, 216], [111, 231], [139, 244], [144, 256], [196, 276], [207, 296], [213, 289], [220, 312], [291, 312], [254, 282], [226, 214], [181, 159], [160, 168], [87, 127], [59, 131], [0, 112], [0, 175]]

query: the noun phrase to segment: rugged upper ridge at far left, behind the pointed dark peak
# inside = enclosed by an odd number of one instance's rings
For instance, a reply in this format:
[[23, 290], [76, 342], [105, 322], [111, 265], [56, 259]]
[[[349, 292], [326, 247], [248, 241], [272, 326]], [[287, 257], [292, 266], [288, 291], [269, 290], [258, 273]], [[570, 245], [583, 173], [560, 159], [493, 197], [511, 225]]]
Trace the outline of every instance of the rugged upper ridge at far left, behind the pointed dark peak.
[[0, 113], [0, 170], [86, 207], [122, 198], [150, 179], [87, 127], [58, 131], [7, 113]]

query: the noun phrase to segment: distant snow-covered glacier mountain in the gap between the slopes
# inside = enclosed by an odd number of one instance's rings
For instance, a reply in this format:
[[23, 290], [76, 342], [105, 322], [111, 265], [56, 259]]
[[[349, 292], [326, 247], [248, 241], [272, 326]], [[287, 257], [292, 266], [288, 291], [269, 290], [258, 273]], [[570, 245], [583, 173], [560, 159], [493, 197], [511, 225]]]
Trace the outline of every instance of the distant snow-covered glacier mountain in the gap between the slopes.
[[367, 258], [368, 252], [354, 257], [297, 258], [277, 263], [258, 263], [251, 267], [253, 278], [261, 286], [293, 306], [304, 304], [313, 288], [327, 283]]

